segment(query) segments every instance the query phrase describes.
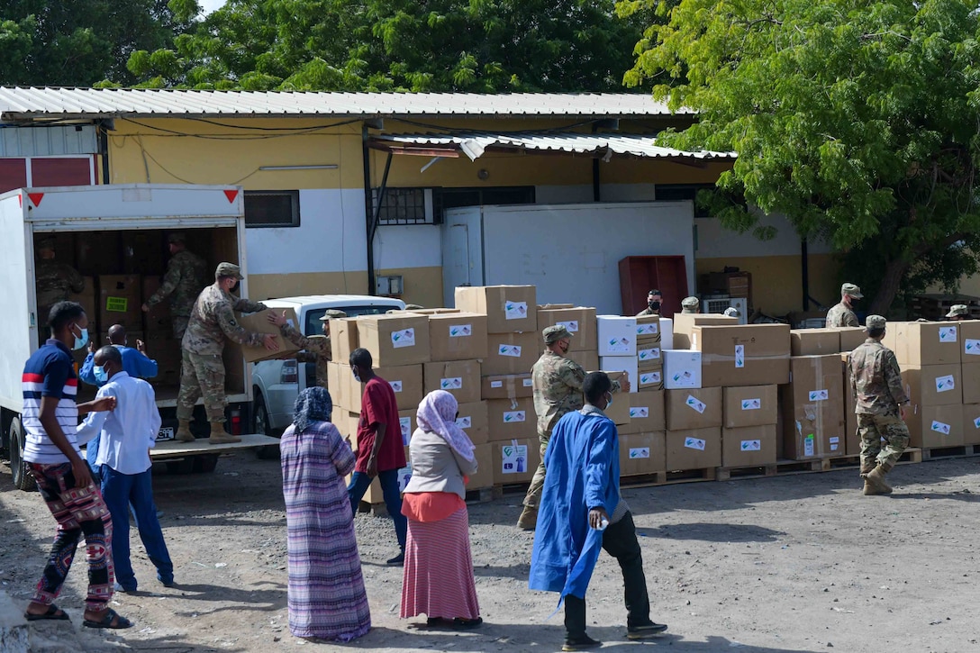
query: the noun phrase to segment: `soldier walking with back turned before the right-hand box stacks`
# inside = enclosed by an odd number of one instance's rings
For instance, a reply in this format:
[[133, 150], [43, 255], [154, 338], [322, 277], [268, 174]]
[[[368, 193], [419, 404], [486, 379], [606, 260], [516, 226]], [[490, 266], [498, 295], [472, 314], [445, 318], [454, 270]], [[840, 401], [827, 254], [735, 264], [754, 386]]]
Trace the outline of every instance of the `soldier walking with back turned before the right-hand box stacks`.
[[[890, 494], [888, 474], [908, 446], [904, 422], [908, 403], [899, 362], [891, 349], [881, 344], [885, 319], [867, 317], [867, 340], [851, 354], [851, 392], [857, 399], [860, 435], [860, 475], [864, 494]], [[882, 449], [881, 440], [885, 447]]]

